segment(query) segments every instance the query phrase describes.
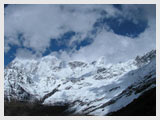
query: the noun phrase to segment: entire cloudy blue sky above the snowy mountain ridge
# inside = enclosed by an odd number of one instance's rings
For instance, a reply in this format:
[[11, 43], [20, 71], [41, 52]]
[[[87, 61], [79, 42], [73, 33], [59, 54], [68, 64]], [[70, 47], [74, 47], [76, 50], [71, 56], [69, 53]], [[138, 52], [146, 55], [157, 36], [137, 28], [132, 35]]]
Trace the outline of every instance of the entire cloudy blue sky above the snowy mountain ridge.
[[156, 49], [154, 4], [4, 6], [4, 64], [16, 57], [117, 63]]

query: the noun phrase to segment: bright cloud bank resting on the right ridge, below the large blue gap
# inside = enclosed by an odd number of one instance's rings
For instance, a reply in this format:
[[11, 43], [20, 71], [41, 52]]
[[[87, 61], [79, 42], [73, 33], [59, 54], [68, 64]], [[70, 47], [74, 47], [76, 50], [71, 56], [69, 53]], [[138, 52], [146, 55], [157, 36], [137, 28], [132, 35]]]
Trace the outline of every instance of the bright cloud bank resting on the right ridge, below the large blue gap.
[[107, 63], [114, 63], [143, 55], [152, 49], [155, 49], [155, 34], [151, 29], [147, 29], [138, 38], [116, 35], [103, 30], [91, 45], [74, 52], [71, 58], [91, 62], [105, 56]]

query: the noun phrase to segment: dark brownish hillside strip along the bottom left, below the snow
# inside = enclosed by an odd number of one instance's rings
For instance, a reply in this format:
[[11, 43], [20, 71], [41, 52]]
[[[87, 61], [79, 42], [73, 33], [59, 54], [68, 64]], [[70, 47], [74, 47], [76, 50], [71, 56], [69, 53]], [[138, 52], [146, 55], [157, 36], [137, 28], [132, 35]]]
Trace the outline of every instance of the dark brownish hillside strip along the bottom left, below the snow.
[[65, 110], [68, 105], [64, 106], [46, 106], [35, 103], [24, 102], [5, 102], [5, 116], [65, 116]]

